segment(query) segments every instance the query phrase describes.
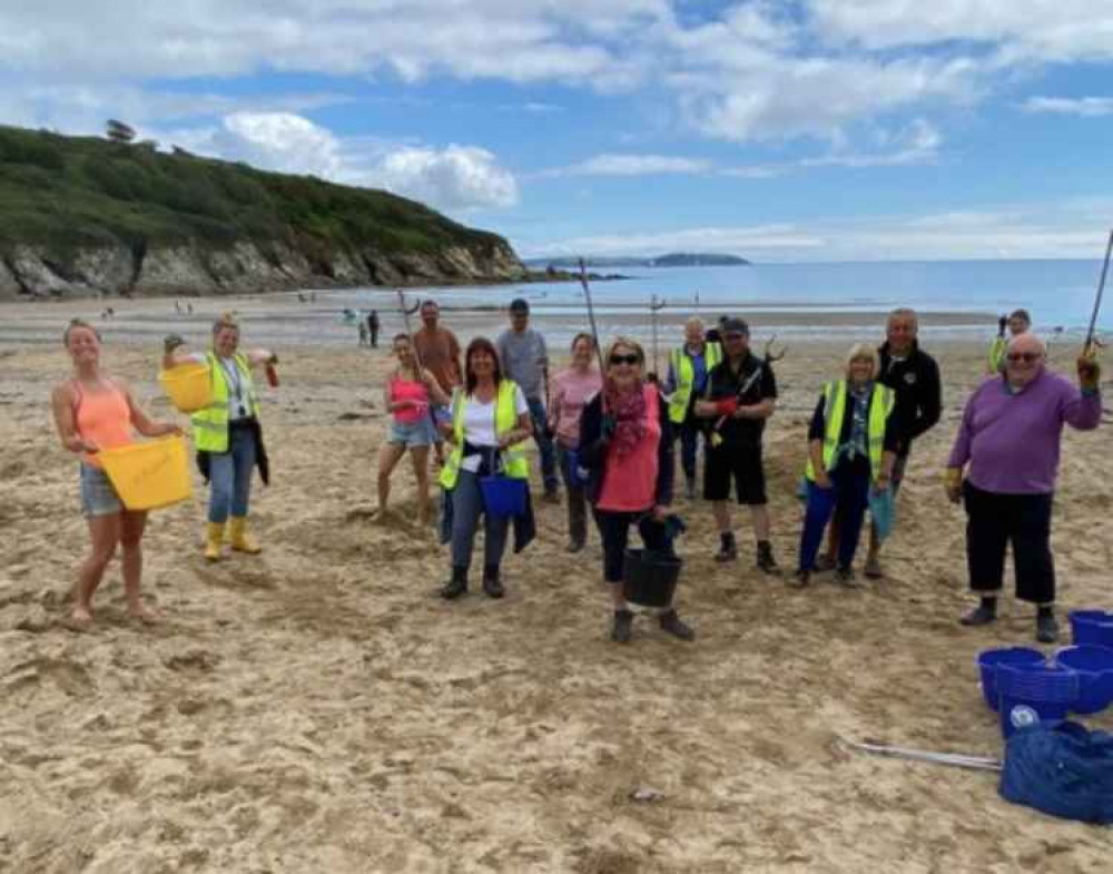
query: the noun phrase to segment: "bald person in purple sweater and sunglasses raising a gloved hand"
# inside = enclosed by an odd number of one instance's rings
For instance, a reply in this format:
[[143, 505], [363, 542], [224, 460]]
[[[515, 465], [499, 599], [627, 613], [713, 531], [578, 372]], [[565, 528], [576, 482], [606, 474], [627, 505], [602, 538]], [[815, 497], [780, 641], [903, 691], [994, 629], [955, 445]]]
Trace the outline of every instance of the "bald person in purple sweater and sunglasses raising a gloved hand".
[[[966, 504], [966, 563], [981, 602], [963, 625], [997, 618], [1005, 549], [1013, 546], [1016, 597], [1036, 605], [1036, 639], [1058, 638], [1051, 513], [1063, 424], [1081, 431], [1102, 418], [1101, 371], [1078, 359], [1078, 386], [1045, 367], [1046, 347], [1033, 334], [1008, 344], [1005, 372], [991, 376], [963, 411], [946, 472], [947, 497]], [[964, 481], [965, 473], [965, 481]]]

